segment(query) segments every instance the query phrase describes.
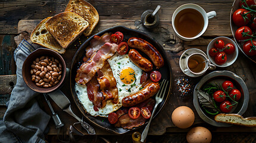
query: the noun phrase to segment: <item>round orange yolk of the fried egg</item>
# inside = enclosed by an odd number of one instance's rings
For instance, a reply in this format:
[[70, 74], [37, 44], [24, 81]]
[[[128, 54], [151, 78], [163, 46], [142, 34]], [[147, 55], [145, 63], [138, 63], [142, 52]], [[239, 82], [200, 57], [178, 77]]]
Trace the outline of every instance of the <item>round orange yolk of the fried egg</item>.
[[120, 79], [125, 85], [129, 85], [135, 80], [135, 73], [131, 67], [125, 67], [121, 70]]

